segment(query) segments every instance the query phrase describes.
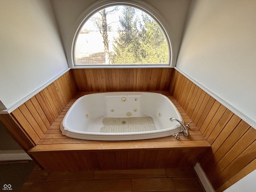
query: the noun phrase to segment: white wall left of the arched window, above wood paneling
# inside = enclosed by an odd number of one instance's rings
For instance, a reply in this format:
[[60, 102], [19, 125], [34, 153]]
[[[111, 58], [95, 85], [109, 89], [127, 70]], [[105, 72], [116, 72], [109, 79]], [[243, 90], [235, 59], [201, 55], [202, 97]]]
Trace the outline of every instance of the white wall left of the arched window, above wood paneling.
[[0, 0], [0, 26], [0, 107], [10, 109], [68, 64], [50, 0]]

